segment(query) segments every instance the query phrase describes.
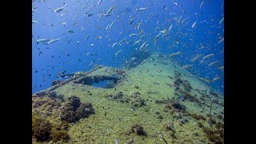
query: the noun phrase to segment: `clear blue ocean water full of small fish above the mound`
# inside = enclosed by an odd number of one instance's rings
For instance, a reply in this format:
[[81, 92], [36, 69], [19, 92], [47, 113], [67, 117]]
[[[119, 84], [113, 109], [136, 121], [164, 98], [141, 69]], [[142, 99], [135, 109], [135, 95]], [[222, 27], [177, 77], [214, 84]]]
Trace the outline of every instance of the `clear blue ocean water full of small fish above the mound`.
[[[50, 87], [51, 81], [59, 79], [59, 72], [68, 74], [91, 70], [94, 64], [121, 67], [130, 53], [142, 46], [143, 42], [148, 43], [146, 50], [158, 51], [167, 57], [181, 51], [182, 54], [174, 56], [174, 60], [182, 66], [193, 65], [189, 71], [200, 78], [219, 77], [209, 85], [223, 93], [224, 74], [223, 70], [218, 69], [218, 66], [224, 66], [224, 42], [220, 42], [224, 38], [223, 0], [98, 2], [32, 2], [32, 20], [36, 21], [32, 23], [32, 93]], [[111, 6], [114, 6], [111, 15], [100, 18], [98, 14], [106, 14]], [[59, 7], [64, 9], [54, 12]], [[146, 9], [138, 10], [140, 8]], [[131, 18], [134, 21], [130, 24]], [[106, 30], [112, 22], [113, 27]], [[141, 30], [147, 36], [134, 46], [139, 36], [130, 38], [129, 35], [138, 34]], [[168, 30], [170, 35], [162, 38], [164, 34], [161, 34], [154, 45], [153, 39], [161, 30]], [[50, 44], [36, 42], [41, 38], [60, 39]], [[126, 40], [120, 46], [118, 43], [124, 38]], [[115, 42], [117, 45], [113, 48]], [[116, 56], [118, 50], [122, 51]], [[197, 54], [202, 54], [201, 58], [192, 62]], [[214, 56], [203, 60], [207, 54]], [[208, 66], [215, 61], [218, 61], [216, 65]]]

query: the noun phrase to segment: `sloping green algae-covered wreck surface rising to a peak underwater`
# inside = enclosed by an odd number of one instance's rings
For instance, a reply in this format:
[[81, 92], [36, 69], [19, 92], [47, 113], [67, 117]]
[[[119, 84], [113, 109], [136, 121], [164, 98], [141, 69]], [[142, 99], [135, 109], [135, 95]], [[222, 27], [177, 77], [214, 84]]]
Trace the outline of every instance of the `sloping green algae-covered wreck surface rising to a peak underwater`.
[[[107, 85], [95, 87], [100, 81]], [[223, 95], [161, 54], [130, 69], [78, 72], [33, 94], [32, 114], [54, 127], [71, 96], [90, 102], [94, 114], [66, 122], [69, 138], [38, 142], [33, 135], [33, 143], [224, 143]]]

